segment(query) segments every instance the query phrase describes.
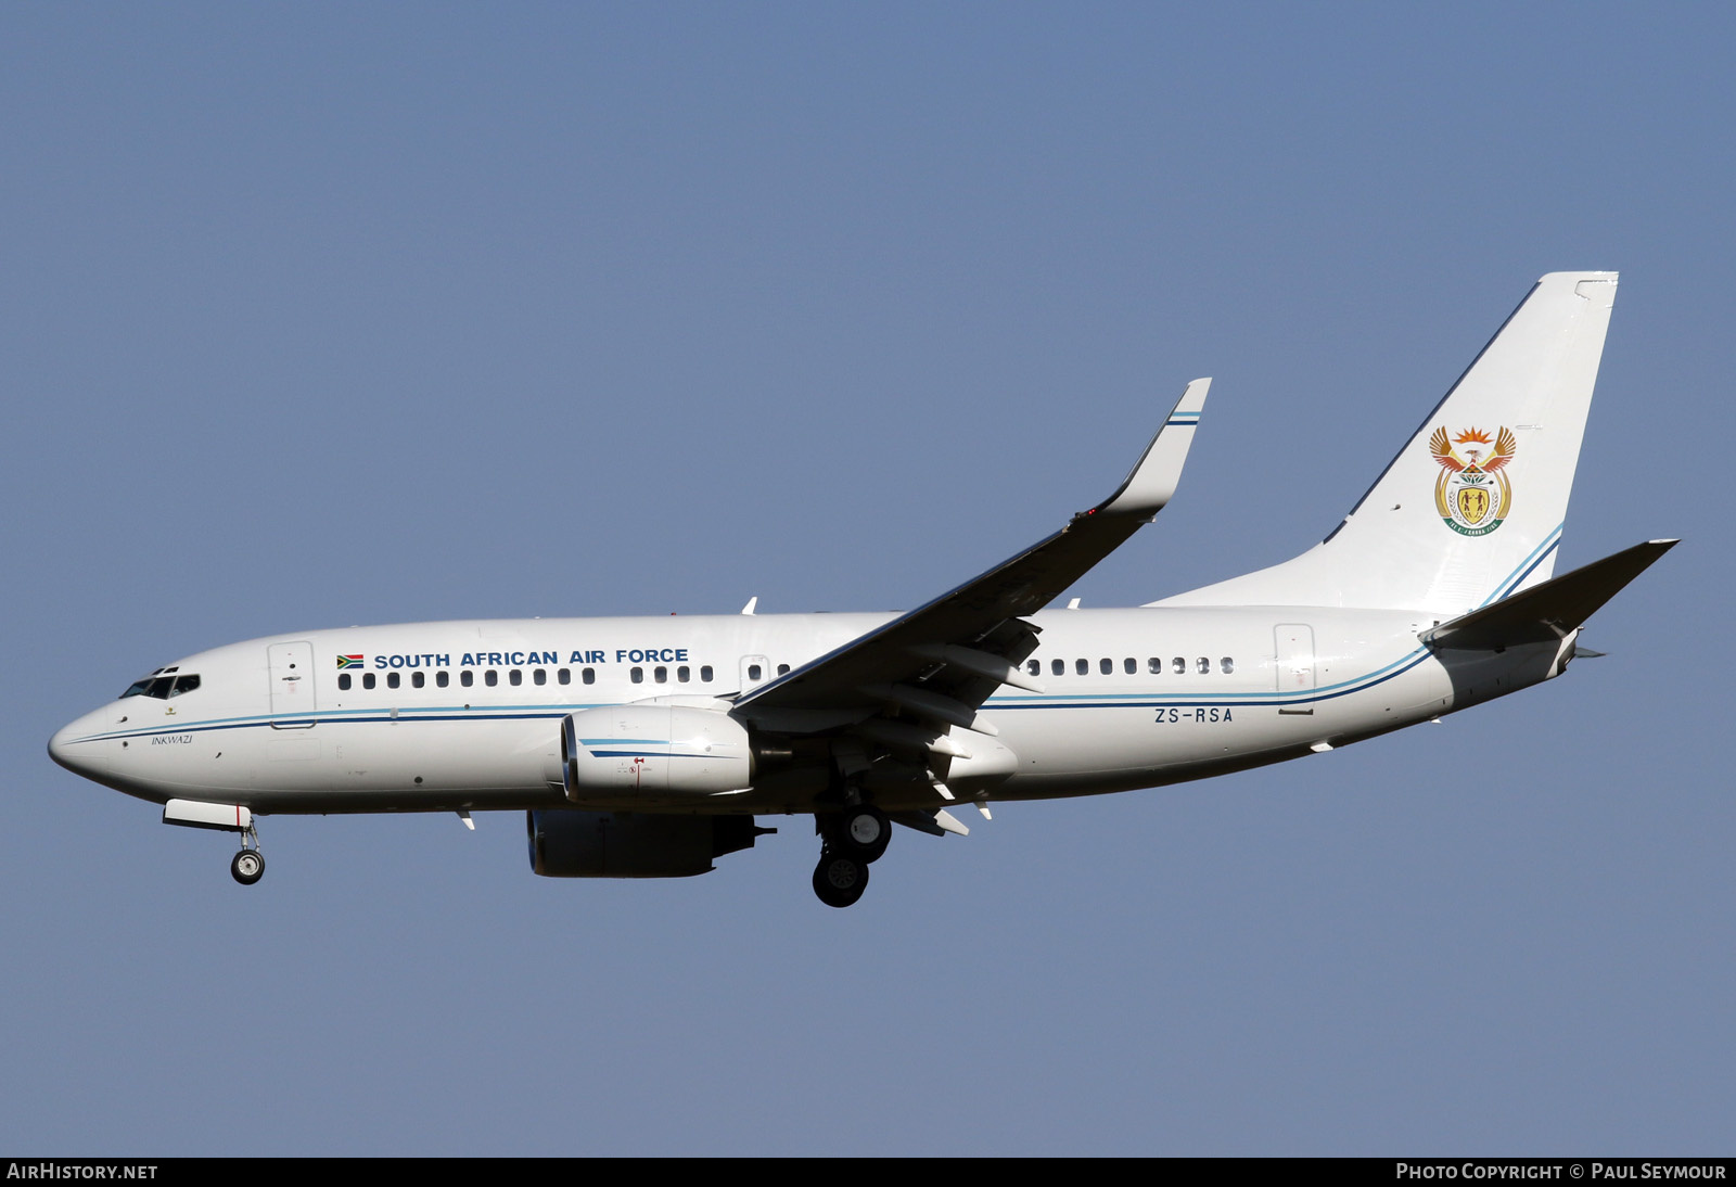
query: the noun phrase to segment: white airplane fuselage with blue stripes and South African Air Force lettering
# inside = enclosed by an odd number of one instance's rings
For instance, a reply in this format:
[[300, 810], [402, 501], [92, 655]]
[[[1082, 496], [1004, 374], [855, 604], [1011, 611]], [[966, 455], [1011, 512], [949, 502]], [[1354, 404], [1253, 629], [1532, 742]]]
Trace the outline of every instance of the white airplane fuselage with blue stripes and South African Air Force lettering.
[[[153, 802], [264, 814], [573, 807], [561, 790], [566, 715], [651, 698], [727, 708], [786, 665], [891, 618], [573, 618], [276, 635], [181, 659], [167, 677], [198, 675], [196, 689], [125, 696], [50, 748]], [[1043, 691], [1002, 687], [983, 706], [1016, 767], [974, 798], [1125, 791], [1278, 762], [1559, 670], [1554, 646], [1450, 668], [1418, 642], [1434, 620], [1417, 611], [1139, 607], [1033, 621], [1040, 647], [1021, 672]], [[812, 812], [814, 791], [767, 777], [740, 795], [656, 807]], [[915, 786], [882, 802], [937, 807], [944, 791]]]

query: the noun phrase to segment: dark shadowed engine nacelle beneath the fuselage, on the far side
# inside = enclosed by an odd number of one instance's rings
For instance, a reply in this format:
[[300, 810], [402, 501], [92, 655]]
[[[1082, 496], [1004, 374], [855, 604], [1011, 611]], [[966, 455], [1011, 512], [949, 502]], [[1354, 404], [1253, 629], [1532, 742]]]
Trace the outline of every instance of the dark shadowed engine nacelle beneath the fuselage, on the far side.
[[531, 869], [545, 878], [689, 878], [712, 859], [752, 849], [752, 816], [648, 816], [644, 812], [524, 814]]

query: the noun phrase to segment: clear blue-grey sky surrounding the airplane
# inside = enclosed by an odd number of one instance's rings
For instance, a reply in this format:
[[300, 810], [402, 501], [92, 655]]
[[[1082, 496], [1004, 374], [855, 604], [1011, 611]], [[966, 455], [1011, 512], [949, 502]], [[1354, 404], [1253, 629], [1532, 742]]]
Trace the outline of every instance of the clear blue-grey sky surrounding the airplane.
[[[0, 9], [0, 1147], [1729, 1152], [1733, 19], [1634, 5]], [[208, 646], [899, 609], [1121, 477], [1135, 604], [1318, 540], [1620, 269], [1562, 564], [1444, 725], [698, 880], [523, 819], [229, 838], [54, 767]], [[1726, 689], [1726, 691], [1719, 691]]]

